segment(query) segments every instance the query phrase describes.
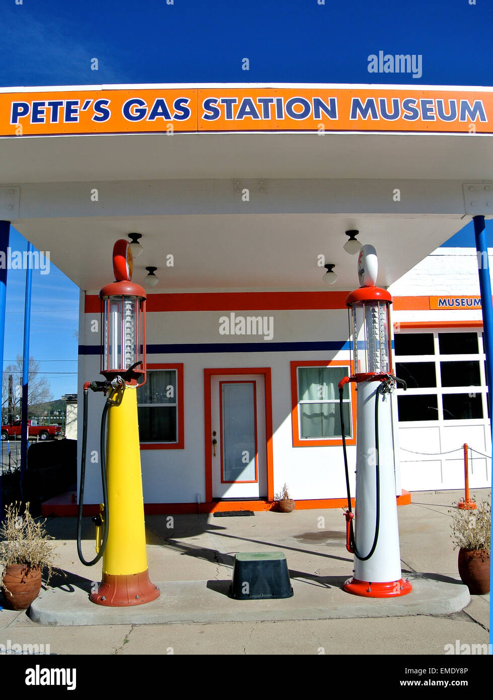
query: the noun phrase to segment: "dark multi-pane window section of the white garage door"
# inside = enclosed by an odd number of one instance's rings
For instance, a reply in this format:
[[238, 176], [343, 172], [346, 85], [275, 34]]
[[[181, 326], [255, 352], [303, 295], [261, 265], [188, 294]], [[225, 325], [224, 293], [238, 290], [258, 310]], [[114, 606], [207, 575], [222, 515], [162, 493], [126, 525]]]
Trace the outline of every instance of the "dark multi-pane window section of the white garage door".
[[488, 419], [482, 333], [403, 331], [394, 349], [396, 375], [408, 384], [397, 391], [399, 422]]

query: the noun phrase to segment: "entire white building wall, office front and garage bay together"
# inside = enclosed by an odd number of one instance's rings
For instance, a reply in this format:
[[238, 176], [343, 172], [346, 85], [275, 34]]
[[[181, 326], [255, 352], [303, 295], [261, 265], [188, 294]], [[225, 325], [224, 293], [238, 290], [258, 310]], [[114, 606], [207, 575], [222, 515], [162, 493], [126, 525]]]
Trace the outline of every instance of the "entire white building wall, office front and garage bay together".
[[[493, 250], [489, 251], [493, 264]], [[474, 248], [438, 248], [389, 288], [394, 297], [423, 297], [438, 295], [479, 295], [477, 258]], [[83, 308], [83, 304], [81, 304]], [[272, 426], [275, 492], [284, 483], [296, 500], [345, 498], [345, 472], [342, 448], [293, 447], [291, 427], [292, 360], [348, 360], [349, 349], [274, 349], [276, 343], [309, 344], [340, 342], [347, 344], [347, 311], [344, 309], [251, 311], [238, 310], [236, 316], [269, 316], [273, 321], [272, 339], [258, 336], [220, 335], [220, 318], [230, 311], [162, 311], [148, 313], [148, 345], [179, 344], [186, 346], [176, 352], [163, 349], [148, 354], [148, 363], [183, 363], [184, 373], [184, 449], [141, 450], [141, 463], [146, 503], [195, 503], [197, 496], [204, 502], [204, 368], [270, 367], [272, 370]], [[394, 310], [392, 320], [396, 332], [402, 322], [481, 323], [480, 309], [454, 310]], [[97, 321], [97, 332], [91, 332], [91, 321]], [[94, 324], [92, 324], [94, 327]], [[82, 328], [83, 326], [83, 328]], [[433, 328], [428, 329], [433, 332]], [[440, 332], [446, 329], [440, 328]], [[471, 329], [465, 329], [469, 332]], [[475, 330], [475, 329], [472, 329]], [[419, 329], [418, 332], [423, 332]], [[81, 355], [79, 363], [79, 404], [82, 405], [82, 385], [99, 375], [99, 314], [84, 314], [81, 318], [81, 338], [84, 346], [92, 346], [97, 354]], [[251, 353], [234, 351], [238, 343], [262, 344]], [[214, 348], [211, 348], [214, 344]], [[224, 351], [218, 351], [223, 344]], [[232, 344], [228, 349], [228, 344]], [[269, 345], [273, 349], [269, 349]], [[169, 348], [171, 349], [171, 348]], [[214, 351], [210, 351], [213, 349]], [[480, 346], [481, 349], [481, 346]], [[221, 348], [222, 350], [222, 348]], [[484, 357], [484, 356], [483, 356]], [[481, 370], [485, 386], [484, 370]], [[400, 393], [400, 392], [399, 392]], [[104, 399], [90, 392], [88, 425], [88, 469], [85, 501], [98, 503], [102, 497], [100, 466], [90, 462], [96, 452], [99, 458], [99, 421]], [[485, 405], [485, 402], [483, 402]], [[394, 400], [394, 416], [397, 416]], [[82, 428], [79, 412], [79, 435]], [[472, 453], [470, 485], [491, 485], [492, 444], [489, 421], [412, 421], [396, 423], [397, 491], [460, 489], [464, 486], [464, 461], [459, 448], [466, 442], [477, 452]], [[79, 443], [81, 441], [79, 440]], [[400, 448], [400, 449], [399, 449]], [[80, 451], [79, 444], [79, 451]], [[451, 450], [454, 450], [451, 452]], [[354, 494], [355, 448], [347, 448], [349, 474]], [[419, 454], [415, 454], [419, 453]]]

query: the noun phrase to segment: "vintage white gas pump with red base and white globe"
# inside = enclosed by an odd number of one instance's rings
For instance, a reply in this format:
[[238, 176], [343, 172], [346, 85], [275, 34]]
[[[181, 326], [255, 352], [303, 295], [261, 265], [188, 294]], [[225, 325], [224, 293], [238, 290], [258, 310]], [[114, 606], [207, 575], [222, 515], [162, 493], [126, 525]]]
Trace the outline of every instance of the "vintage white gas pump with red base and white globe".
[[[377, 254], [363, 246], [358, 257], [360, 288], [347, 296], [352, 335], [353, 372], [340, 381], [340, 416], [348, 507], [346, 548], [354, 553], [354, 576], [344, 589], [356, 596], [387, 598], [410, 593], [401, 573], [397, 522], [391, 393], [397, 383], [391, 370], [390, 304], [387, 290], [375, 286]], [[356, 498], [351, 507], [342, 417], [342, 389], [356, 382]], [[353, 528], [353, 519], [355, 528]]]

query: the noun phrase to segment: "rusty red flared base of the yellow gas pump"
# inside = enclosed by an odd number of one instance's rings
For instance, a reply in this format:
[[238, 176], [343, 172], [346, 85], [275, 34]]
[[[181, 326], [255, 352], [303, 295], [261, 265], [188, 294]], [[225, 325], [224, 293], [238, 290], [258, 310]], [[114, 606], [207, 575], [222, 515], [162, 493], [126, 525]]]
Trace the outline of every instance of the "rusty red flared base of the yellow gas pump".
[[90, 600], [97, 605], [125, 608], [127, 605], [142, 605], [159, 598], [160, 591], [149, 579], [149, 570], [129, 575], [103, 573], [103, 580]]

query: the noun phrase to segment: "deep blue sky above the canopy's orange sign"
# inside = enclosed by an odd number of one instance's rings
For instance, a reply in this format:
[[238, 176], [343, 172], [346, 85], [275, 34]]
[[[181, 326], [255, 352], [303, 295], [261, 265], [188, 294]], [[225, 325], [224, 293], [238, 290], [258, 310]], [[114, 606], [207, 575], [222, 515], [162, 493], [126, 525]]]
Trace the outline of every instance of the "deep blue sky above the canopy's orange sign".
[[[491, 0], [170, 1], [0, 0], [0, 85], [492, 85]], [[372, 77], [379, 50], [421, 55], [422, 76]]]

